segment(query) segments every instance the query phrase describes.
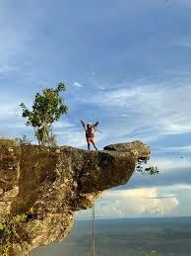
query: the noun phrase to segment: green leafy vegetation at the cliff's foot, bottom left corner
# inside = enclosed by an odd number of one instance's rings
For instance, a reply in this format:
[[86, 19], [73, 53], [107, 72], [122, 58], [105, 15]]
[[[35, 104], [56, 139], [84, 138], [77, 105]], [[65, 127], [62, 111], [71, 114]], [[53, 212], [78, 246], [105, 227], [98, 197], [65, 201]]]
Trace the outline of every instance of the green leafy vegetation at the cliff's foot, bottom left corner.
[[0, 256], [9, 256], [12, 243], [19, 238], [17, 232], [21, 222], [27, 219], [25, 213], [6, 216], [0, 223]]

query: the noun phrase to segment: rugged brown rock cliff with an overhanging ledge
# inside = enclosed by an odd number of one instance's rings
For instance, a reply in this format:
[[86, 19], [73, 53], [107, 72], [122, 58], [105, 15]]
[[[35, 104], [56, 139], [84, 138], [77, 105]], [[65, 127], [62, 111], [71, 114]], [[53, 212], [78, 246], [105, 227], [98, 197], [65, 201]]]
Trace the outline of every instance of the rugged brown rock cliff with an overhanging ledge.
[[102, 191], [125, 184], [139, 159], [150, 157], [141, 141], [108, 145], [102, 151], [69, 146], [10, 146], [0, 142], [0, 220], [26, 213], [12, 255], [61, 240], [75, 211], [92, 208]]

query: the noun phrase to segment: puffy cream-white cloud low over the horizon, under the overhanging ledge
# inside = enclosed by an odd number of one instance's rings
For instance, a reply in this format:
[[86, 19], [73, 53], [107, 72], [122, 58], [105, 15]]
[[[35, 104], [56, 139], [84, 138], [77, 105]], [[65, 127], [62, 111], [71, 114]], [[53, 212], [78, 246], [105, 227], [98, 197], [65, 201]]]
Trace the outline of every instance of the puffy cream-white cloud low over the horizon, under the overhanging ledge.
[[172, 214], [178, 205], [174, 195], [161, 194], [158, 188], [107, 191], [96, 202], [96, 217], [164, 216]]

